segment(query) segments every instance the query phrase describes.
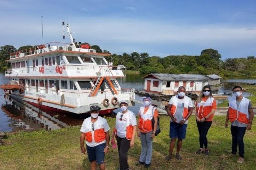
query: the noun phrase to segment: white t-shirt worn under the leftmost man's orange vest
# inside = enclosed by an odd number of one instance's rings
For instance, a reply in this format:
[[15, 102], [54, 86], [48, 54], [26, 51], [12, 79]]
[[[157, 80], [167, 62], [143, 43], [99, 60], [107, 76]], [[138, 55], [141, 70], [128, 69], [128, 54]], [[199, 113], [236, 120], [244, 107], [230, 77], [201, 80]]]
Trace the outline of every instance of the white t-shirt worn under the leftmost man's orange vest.
[[[92, 142], [85, 141], [85, 143], [90, 147], [94, 147], [94, 146], [97, 146], [99, 144], [106, 143], [106, 140], [104, 140], [102, 142], [99, 142], [99, 143], [96, 143], [94, 141], [94, 131], [93, 131], [93, 127], [92, 127], [93, 123], [92, 123], [91, 119], [92, 119], [91, 117], [88, 117], [87, 119], [85, 119], [83, 121], [82, 127], [80, 129], [80, 132], [83, 132], [83, 133], [86, 133], [88, 131], [92, 132], [93, 141]], [[96, 120], [96, 122], [94, 122], [93, 126], [94, 126], [94, 130], [101, 129], [101, 128], [104, 128], [104, 132], [107, 132], [107, 131], [110, 130], [110, 127], [109, 127], [108, 122], [106, 121], [106, 119], [104, 119], [100, 116], [98, 116], [98, 119]]]

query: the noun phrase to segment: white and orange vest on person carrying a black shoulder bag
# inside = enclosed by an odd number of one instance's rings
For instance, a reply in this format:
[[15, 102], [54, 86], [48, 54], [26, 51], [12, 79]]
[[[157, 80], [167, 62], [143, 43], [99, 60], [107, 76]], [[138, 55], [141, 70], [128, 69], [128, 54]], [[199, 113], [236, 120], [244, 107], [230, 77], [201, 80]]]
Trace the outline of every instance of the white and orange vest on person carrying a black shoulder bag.
[[144, 113], [145, 107], [139, 108], [139, 129], [143, 129], [145, 132], [152, 131], [152, 118], [156, 108], [149, 105], [148, 110]]

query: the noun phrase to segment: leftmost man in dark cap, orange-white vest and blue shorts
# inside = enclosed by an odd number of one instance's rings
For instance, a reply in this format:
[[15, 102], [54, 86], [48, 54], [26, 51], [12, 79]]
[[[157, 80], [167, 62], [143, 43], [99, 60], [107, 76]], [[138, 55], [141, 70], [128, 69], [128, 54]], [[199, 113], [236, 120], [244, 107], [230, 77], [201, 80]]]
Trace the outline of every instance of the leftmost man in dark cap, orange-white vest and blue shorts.
[[[106, 119], [98, 116], [98, 106], [91, 106], [91, 117], [83, 121], [80, 129], [80, 146], [81, 152], [85, 154], [87, 150], [88, 159], [90, 161], [91, 170], [96, 170], [96, 162], [100, 170], [105, 170], [104, 157], [109, 149], [109, 125]], [[84, 147], [84, 140], [86, 148]]]

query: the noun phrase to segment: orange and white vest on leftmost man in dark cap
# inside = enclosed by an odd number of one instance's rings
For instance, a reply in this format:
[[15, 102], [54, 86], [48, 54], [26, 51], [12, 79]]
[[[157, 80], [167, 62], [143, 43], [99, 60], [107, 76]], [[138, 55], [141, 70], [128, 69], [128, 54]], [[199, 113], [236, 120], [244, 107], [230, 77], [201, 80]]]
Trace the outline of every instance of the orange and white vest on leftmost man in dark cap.
[[[92, 129], [92, 122], [91, 119], [87, 119], [87, 122], [85, 123], [85, 140], [87, 142], [93, 142], [93, 139], [96, 143], [102, 142], [106, 139], [106, 134], [104, 131], [104, 125], [103, 125], [103, 118], [98, 116], [98, 120], [94, 122], [94, 131]], [[94, 133], [92, 133], [92, 131]]]

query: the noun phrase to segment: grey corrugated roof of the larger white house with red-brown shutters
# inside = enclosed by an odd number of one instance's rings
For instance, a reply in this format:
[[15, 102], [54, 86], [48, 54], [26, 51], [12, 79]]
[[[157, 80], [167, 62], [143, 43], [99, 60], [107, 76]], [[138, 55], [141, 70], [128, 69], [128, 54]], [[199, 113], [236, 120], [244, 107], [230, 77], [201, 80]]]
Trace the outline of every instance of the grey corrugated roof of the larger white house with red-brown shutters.
[[[208, 79], [204, 77], [203, 75], [196, 75], [196, 74], [153, 74], [150, 75], [155, 76], [156, 78], [160, 80], [190, 80], [190, 81], [196, 81], [196, 80], [204, 80], [207, 81]], [[149, 75], [148, 75], [149, 76]], [[143, 77], [146, 78], [147, 76]]]

